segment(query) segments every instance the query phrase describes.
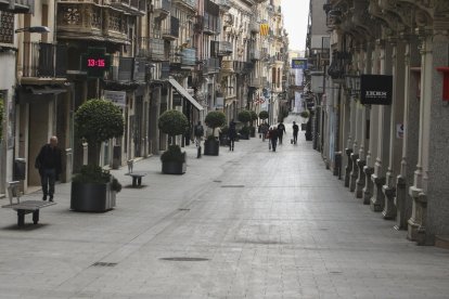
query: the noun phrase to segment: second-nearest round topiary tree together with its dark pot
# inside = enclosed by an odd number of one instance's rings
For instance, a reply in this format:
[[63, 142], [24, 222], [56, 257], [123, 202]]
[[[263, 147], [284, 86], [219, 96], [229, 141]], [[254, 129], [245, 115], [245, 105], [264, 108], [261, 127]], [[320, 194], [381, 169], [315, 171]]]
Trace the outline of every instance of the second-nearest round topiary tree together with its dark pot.
[[183, 134], [189, 127], [185, 115], [179, 110], [166, 110], [158, 119], [158, 128], [170, 136], [172, 144], [161, 155], [162, 172], [166, 174], [183, 174], [187, 170], [185, 152], [176, 144], [176, 135]]

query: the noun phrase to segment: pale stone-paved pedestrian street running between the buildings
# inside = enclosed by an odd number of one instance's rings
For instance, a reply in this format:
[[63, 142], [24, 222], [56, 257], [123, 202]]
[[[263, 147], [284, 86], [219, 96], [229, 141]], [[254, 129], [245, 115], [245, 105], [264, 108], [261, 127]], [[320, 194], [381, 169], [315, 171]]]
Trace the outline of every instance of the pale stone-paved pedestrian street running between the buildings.
[[141, 160], [142, 188], [124, 167], [106, 213], [69, 211], [68, 184], [38, 225], [1, 209], [0, 298], [449, 298], [449, 250], [408, 242], [290, 135], [189, 146], [184, 176]]

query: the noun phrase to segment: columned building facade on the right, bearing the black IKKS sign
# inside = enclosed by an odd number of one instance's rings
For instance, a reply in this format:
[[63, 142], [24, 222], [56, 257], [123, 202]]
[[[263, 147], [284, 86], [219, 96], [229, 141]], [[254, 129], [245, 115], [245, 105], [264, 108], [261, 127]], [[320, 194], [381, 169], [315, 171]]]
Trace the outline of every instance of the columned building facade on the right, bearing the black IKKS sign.
[[335, 130], [320, 131], [323, 158], [409, 239], [444, 244], [449, 2], [328, 0], [323, 9], [332, 32], [324, 90], [336, 113], [328, 115]]

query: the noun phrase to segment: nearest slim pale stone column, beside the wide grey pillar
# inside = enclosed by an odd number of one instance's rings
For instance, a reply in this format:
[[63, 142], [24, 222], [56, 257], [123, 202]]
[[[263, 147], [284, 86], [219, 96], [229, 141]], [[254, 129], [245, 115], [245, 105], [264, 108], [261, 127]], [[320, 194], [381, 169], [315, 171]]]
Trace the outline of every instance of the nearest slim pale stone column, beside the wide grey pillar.
[[418, 164], [414, 171], [413, 185], [409, 194], [413, 198], [412, 216], [408, 221], [408, 235], [418, 244], [425, 244], [427, 196], [426, 180], [428, 165], [428, 143], [433, 80], [433, 36], [431, 31], [420, 31], [421, 40], [421, 94], [420, 94], [420, 130], [418, 144]]

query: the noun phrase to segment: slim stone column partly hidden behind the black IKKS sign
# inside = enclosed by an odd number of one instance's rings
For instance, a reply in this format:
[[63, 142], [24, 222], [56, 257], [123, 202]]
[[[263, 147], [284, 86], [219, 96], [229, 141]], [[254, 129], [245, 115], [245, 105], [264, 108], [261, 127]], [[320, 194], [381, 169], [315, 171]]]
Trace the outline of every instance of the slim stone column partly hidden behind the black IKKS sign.
[[[392, 48], [389, 44], [383, 44], [381, 50], [382, 75], [392, 74], [390, 50]], [[374, 173], [371, 174], [371, 181], [373, 182], [374, 186], [370, 207], [373, 211], [382, 211], [384, 209], [384, 194], [382, 192], [382, 186], [385, 184], [386, 166], [388, 165], [390, 110], [392, 107], [387, 105], [382, 105], [379, 107], [379, 130], [377, 135], [373, 136], [377, 140], [377, 155], [374, 162]]]

